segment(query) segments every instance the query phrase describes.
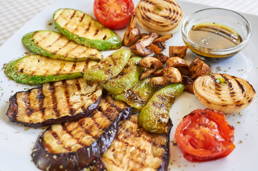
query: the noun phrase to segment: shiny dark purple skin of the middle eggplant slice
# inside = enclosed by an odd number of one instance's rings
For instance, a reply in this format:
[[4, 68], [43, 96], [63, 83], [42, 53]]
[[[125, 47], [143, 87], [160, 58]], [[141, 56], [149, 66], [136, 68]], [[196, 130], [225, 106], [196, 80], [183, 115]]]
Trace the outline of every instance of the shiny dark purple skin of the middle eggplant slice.
[[[77, 171], [94, 163], [105, 152], [118, 132], [118, 122], [130, 117], [132, 108], [127, 107], [120, 112], [109, 128], [101, 134], [100, 138], [90, 146], [78, 149], [76, 152], [52, 154], [44, 149], [43, 136], [38, 137], [31, 154], [33, 162], [41, 170], [49, 171]], [[88, 116], [91, 117], [91, 116]], [[47, 130], [51, 129], [51, 126]], [[47, 131], [46, 130], [46, 131]], [[45, 132], [46, 132], [45, 131]]]

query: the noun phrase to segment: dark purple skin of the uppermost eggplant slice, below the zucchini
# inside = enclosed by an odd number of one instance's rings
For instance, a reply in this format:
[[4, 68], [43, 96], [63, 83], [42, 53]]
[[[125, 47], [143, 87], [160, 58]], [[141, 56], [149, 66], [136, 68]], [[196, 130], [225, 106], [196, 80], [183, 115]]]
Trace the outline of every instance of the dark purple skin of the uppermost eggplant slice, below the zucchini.
[[[67, 122], [67, 121], [76, 121], [80, 118], [87, 117], [88, 115], [92, 114], [92, 112], [94, 110], [98, 109], [99, 104], [101, 102], [101, 98], [102, 98], [102, 95], [99, 96], [98, 100], [95, 103], [90, 104], [84, 112], [77, 113], [74, 116], [69, 116], [69, 115], [63, 116], [59, 119], [48, 119], [45, 122], [28, 123], [28, 122], [17, 121], [17, 120], [15, 120], [17, 110], [14, 110], [14, 112], [12, 112], [11, 114], [9, 114], [7, 112], [6, 115], [8, 116], [8, 118], [11, 122], [17, 122], [17, 123], [25, 125], [26, 127], [34, 127], [34, 128], [45, 127], [45, 126], [50, 126], [50, 125], [53, 125], [53, 124], [61, 124], [61, 123]], [[16, 94], [14, 94], [9, 99], [10, 104], [9, 104], [9, 108], [8, 108], [7, 111], [9, 111], [10, 109], [17, 109], [17, 104], [15, 102], [16, 101], [15, 99], [16, 99]]]

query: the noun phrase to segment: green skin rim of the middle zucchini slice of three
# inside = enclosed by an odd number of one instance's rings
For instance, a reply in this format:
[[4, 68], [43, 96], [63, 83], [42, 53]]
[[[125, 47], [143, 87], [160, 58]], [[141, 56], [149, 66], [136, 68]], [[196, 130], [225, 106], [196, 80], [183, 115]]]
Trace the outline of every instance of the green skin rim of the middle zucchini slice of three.
[[[65, 61], [76, 61], [76, 62], [83, 61], [83, 60], [86, 60], [86, 59], [92, 59], [92, 60], [97, 60], [97, 61], [102, 60], [101, 52], [96, 50], [96, 49], [92, 49], [92, 51], [93, 51], [92, 55], [85, 56], [83, 58], [71, 57], [71, 55], [69, 55], [69, 54], [68, 54], [67, 57], [64, 57], [60, 53], [55, 53], [55, 52], [51, 52], [51, 51], [48, 51], [48, 50], [44, 50], [41, 47], [39, 47], [36, 44], [36, 42], [34, 41], [34, 35], [36, 33], [52, 33], [52, 34], [60, 34], [60, 33], [54, 32], [54, 31], [40, 30], [40, 31], [34, 31], [34, 32], [27, 33], [22, 37], [22, 43], [24, 44], [24, 46], [26, 46], [28, 49], [30, 49], [31, 51], [33, 51], [33, 52], [35, 52], [39, 55], [50, 57], [50, 58], [53, 58], [53, 59], [61, 59], [61, 60], [65, 60]], [[63, 36], [62, 34], [60, 34], [60, 37], [61, 37], [60, 39], [68, 39], [65, 36]], [[88, 47], [84, 47], [84, 46], [79, 45], [79, 44], [78, 44], [78, 46], [81, 46], [80, 48], [83, 48], [84, 50], [90, 50]], [[78, 48], [78, 47], [76, 47], [76, 48]]]

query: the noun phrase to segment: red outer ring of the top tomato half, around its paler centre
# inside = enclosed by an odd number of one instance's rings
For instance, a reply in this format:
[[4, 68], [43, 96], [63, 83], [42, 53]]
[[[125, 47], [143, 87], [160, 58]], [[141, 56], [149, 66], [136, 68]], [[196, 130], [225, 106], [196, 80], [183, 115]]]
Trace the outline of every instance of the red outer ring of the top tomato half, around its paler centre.
[[120, 17], [119, 19], [116, 19], [116, 20], [102, 14], [102, 11], [99, 8], [100, 1], [106, 1], [106, 0], [94, 1], [94, 15], [101, 24], [103, 24], [104, 26], [112, 30], [124, 29], [129, 24], [130, 16], [131, 14], [134, 13], [134, 4], [132, 0], [121, 0], [129, 3], [128, 13], [125, 14], [125, 16]]

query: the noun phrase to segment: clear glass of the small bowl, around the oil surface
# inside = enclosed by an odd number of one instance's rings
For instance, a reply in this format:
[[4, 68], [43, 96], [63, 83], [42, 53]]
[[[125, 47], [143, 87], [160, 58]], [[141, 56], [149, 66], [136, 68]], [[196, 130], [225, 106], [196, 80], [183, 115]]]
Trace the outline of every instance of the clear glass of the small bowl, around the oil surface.
[[[234, 29], [242, 37], [243, 41], [230, 48], [212, 49], [200, 46], [188, 39], [188, 32], [194, 25], [212, 22]], [[184, 43], [195, 55], [203, 60], [220, 61], [231, 58], [247, 46], [252, 27], [249, 21], [237, 12], [222, 8], [208, 8], [187, 16], [183, 21], [181, 31]]]

